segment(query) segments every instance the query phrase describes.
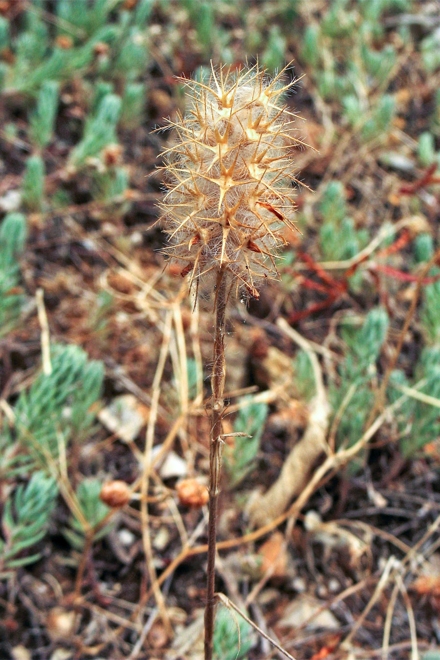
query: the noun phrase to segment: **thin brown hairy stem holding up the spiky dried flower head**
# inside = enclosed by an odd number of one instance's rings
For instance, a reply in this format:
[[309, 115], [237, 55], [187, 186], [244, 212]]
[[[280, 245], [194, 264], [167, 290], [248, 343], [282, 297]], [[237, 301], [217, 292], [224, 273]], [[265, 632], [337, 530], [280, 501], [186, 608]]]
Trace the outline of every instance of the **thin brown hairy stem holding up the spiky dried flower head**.
[[209, 519], [208, 519], [208, 569], [206, 579], [206, 609], [204, 611], [204, 659], [212, 660], [215, 621], [215, 560], [217, 502], [220, 492], [220, 468], [222, 466], [222, 415], [224, 409], [224, 380], [226, 362], [224, 358], [224, 324], [226, 310], [226, 272], [220, 267], [216, 282], [214, 303], [214, 364], [212, 365], [211, 389], [212, 412], [209, 448]]

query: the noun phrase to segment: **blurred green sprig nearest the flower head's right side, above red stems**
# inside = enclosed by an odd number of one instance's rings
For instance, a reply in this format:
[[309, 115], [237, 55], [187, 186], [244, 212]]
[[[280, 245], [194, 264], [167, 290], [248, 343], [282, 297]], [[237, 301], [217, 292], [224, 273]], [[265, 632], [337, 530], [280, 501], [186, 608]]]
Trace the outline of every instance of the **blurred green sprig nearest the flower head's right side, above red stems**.
[[332, 181], [327, 184], [319, 209], [324, 220], [319, 236], [323, 257], [342, 261], [358, 254], [367, 244], [368, 234], [366, 230], [356, 229], [352, 218], [347, 216], [342, 183]]

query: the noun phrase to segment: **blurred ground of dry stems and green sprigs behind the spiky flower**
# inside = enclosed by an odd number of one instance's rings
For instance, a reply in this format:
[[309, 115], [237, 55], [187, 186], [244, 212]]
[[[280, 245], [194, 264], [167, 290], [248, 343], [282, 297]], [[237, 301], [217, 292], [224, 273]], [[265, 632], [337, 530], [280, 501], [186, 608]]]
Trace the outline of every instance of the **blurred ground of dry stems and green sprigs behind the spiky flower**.
[[203, 657], [210, 214], [164, 269], [152, 130], [177, 75], [258, 56], [294, 61], [305, 185], [279, 279], [228, 310], [214, 657], [440, 658], [439, 26], [429, 1], [0, 2], [1, 657]]

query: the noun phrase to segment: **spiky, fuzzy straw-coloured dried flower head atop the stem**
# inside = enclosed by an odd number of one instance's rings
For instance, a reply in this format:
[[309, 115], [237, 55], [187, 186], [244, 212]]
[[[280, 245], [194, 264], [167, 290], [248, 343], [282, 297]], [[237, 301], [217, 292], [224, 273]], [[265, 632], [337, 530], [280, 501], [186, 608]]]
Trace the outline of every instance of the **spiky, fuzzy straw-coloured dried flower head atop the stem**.
[[[212, 65], [211, 65], [212, 66]], [[286, 67], [287, 68], [287, 67]], [[175, 142], [164, 151], [168, 193], [162, 226], [166, 252], [191, 274], [190, 285], [223, 267], [258, 297], [258, 281], [278, 276], [274, 254], [294, 228], [294, 162], [288, 148], [294, 115], [280, 104], [285, 69], [270, 80], [258, 65], [209, 81], [180, 80], [191, 90], [187, 116], [170, 121]]]

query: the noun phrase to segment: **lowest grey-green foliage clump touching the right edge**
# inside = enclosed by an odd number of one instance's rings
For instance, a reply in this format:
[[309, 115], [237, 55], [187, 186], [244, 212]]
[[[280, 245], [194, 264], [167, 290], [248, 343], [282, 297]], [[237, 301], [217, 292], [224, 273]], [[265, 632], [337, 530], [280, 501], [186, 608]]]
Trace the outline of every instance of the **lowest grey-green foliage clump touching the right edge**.
[[[414, 371], [414, 385], [431, 397], [440, 399], [440, 347], [424, 348]], [[402, 371], [394, 371], [390, 378], [389, 399], [395, 401], [401, 396], [399, 385], [412, 385]], [[396, 386], [396, 387], [394, 387]], [[411, 456], [429, 442], [437, 440], [440, 434], [439, 407], [408, 397], [398, 411], [398, 424], [401, 431], [400, 449], [405, 457]]]

